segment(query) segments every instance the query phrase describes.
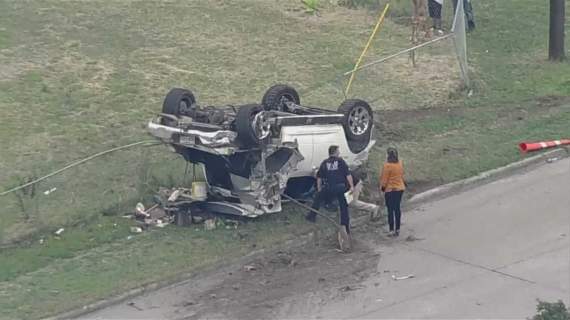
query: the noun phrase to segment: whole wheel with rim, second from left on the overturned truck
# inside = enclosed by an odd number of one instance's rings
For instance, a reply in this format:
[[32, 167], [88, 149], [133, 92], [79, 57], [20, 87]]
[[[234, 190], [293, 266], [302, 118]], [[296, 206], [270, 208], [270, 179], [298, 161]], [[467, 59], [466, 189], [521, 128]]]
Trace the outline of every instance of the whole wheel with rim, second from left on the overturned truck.
[[245, 105], [235, 115], [238, 140], [246, 149], [265, 146], [271, 138], [271, 125], [267, 113], [259, 104]]

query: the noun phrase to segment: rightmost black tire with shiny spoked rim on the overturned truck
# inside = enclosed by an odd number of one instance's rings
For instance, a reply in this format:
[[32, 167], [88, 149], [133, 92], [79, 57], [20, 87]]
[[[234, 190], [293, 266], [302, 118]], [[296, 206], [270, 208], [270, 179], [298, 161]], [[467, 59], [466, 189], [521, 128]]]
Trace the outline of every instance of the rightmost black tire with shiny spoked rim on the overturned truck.
[[[365, 142], [370, 138], [370, 132], [372, 132], [372, 125], [374, 123], [374, 115], [372, 113], [372, 108], [368, 102], [360, 99], [348, 99], [339, 106], [337, 112], [344, 114], [343, 127], [344, 133], [348, 140]], [[353, 114], [355, 113], [356, 114]], [[355, 120], [355, 116], [358, 114], [366, 115], [366, 119]], [[362, 121], [361, 124], [355, 121]], [[363, 128], [365, 126], [365, 128]]]

